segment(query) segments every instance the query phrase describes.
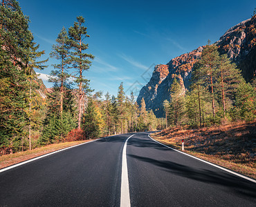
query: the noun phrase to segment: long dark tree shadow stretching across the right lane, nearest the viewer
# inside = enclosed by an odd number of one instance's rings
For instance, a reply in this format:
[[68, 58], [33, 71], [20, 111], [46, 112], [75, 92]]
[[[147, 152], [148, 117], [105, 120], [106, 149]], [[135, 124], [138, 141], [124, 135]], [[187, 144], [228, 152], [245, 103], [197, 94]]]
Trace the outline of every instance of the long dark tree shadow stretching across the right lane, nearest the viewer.
[[[156, 159], [151, 159], [148, 157], [140, 157], [136, 155], [128, 155], [134, 159], [139, 159], [140, 161], [145, 161], [149, 164], [153, 164], [163, 170], [173, 173], [181, 177], [187, 177], [189, 179], [194, 179], [196, 181], [201, 181], [205, 183], [217, 184], [220, 186], [226, 186], [232, 189], [235, 193], [242, 193], [248, 197], [256, 198], [256, 185], [241, 179], [234, 175], [229, 175], [228, 173], [215, 172], [213, 170], [203, 170], [196, 169], [190, 166], [185, 166], [182, 164], [177, 164], [173, 161], [160, 161]], [[237, 195], [239, 196], [239, 195]]]

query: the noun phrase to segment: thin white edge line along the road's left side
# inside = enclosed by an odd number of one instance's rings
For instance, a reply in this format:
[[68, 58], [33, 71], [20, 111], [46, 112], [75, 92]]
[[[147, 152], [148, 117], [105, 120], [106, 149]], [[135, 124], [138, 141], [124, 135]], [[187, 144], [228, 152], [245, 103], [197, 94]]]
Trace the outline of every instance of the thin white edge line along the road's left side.
[[[113, 135], [113, 136], [116, 136], [116, 135]], [[110, 137], [113, 137], [113, 136], [110, 136]], [[109, 137], [102, 137], [102, 138], [100, 138], [100, 139], [107, 139], [107, 138], [109, 138]], [[1, 170], [0, 170], [0, 173], [1, 173], [1, 172], [4, 172], [4, 171], [6, 171], [6, 170], [10, 170], [10, 169], [12, 169], [12, 168], [16, 168], [16, 167], [18, 167], [18, 166], [22, 166], [22, 165], [24, 165], [24, 164], [29, 163], [30, 161], [35, 161], [35, 160], [37, 160], [37, 159], [41, 159], [41, 158], [43, 158], [43, 157], [47, 157], [47, 156], [49, 156], [49, 155], [53, 155], [53, 154], [55, 154], [55, 153], [57, 153], [57, 152], [62, 152], [62, 151], [64, 151], [64, 150], [68, 150], [68, 149], [70, 149], [70, 148], [75, 148], [75, 147], [80, 146], [80, 145], [83, 145], [83, 144], [89, 144], [90, 142], [97, 141], [97, 140], [100, 140], [100, 139], [95, 139], [95, 140], [87, 141], [87, 142], [84, 142], [84, 143], [82, 143], [82, 144], [77, 144], [77, 145], [74, 145], [74, 146], [70, 146], [70, 147], [68, 147], [68, 148], [64, 148], [64, 149], [61, 149], [61, 150], [57, 150], [57, 151], [54, 151], [54, 152], [50, 152], [50, 153], [48, 153], [48, 154], [46, 154], [46, 155], [41, 155], [41, 156], [35, 157], [35, 158], [33, 158], [33, 159], [28, 159], [28, 160], [26, 160], [26, 161], [22, 161], [22, 162], [20, 162], [20, 163], [18, 163], [18, 164], [14, 164], [13, 166], [9, 166], [9, 167], [6, 167], [6, 168], [1, 169]]]

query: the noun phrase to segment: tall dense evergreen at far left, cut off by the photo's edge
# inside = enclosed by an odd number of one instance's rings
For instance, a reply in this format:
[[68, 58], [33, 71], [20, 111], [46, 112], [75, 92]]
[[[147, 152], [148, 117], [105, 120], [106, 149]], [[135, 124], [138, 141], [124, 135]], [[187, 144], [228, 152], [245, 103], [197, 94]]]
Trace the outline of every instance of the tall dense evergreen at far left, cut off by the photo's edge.
[[[36, 52], [33, 34], [26, 17], [15, 0], [0, 5], [0, 147], [9, 152], [21, 148], [21, 139], [28, 136], [31, 92]], [[39, 63], [39, 62], [37, 62]], [[30, 136], [29, 136], [30, 137]], [[31, 148], [31, 144], [30, 144]]]

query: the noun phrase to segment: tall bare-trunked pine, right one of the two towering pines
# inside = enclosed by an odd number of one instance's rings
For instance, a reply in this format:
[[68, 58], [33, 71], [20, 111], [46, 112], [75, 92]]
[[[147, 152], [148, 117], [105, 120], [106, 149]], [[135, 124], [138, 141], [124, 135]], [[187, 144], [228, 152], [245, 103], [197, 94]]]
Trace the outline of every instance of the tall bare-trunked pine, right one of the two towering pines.
[[71, 55], [68, 61], [72, 63], [75, 69], [75, 83], [78, 86], [78, 129], [81, 128], [82, 118], [82, 100], [84, 98], [84, 89], [88, 87], [88, 79], [84, 79], [83, 72], [89, 70], [91, 66], [90, 59], [93, 59], [93, 55], [87, 54], [84, 50], [88, 49], [88, 44], [84, 43], [84, 39], [90, 37], [87, 34], [87, 28], [83, 26], [84, 18], [82, 16], [77, 17], [77, 22], [74, 26], [68, 29], [69, 43], [71, 46]]

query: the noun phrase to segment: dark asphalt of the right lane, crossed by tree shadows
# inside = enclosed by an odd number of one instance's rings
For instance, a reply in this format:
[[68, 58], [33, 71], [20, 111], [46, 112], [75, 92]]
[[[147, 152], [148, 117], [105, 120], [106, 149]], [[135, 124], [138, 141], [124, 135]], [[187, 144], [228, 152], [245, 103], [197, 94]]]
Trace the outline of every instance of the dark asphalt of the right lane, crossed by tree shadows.
[[166, 148], [146, 134], [127, 146], [131, 206], [256, 206], [256, 184]]

